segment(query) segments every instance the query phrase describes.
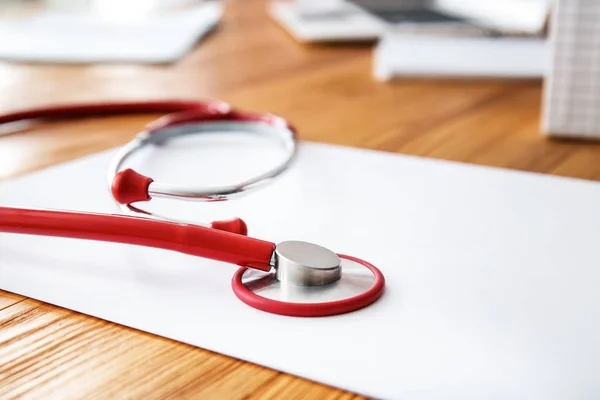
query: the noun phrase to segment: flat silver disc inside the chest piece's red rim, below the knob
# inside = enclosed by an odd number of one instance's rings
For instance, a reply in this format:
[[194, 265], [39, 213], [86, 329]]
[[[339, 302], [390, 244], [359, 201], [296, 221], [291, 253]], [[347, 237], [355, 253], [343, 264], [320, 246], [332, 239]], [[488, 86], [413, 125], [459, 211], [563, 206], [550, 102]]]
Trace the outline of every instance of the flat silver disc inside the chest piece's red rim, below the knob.
[[297, 286], [282, 284], [276, 273], [248, 269], [242, 283], [254, 294], [266, 299], [289, 303], [325, 303], [344, 300], [365, 293], [375, 284], [375, 275], [356, 261], [341, 258], [342, 277], [328, 285]]

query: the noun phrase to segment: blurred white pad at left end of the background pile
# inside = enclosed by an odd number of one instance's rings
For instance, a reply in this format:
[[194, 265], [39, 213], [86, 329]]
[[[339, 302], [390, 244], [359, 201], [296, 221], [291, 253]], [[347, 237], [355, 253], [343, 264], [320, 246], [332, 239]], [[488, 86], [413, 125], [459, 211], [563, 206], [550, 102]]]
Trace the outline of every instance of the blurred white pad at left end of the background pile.
[[380, 19], [345, 2], [273, 1], [268, 12], [299, 42], [367, 41], [383, 32]]

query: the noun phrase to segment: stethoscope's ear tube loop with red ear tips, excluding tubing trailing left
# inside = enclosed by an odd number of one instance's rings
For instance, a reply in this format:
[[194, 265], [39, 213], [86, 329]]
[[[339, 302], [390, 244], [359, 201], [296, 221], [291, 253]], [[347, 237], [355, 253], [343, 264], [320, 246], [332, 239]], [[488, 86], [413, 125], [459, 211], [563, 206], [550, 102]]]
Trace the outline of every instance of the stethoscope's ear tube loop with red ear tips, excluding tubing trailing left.
[[[161, 144], [166, 140], [205, 132], [246, 132], [274, 138], [285, 151], [284, 160], [274, 168], [243, 182], [226, 186], [193, 187], [156, 182], [130, 168], [122, 169], [126, 161], [145, 146]], [[225, 201], [269, 182], [283, 173], [296, 155], [296, 131], [284, 119], [272, 114], [248, 113], [231, 108], [205, 107], [170, 114], [150, 123], [131, 142], [121, 148], [107, 171], [107, 183], [113, 198], [125, 212], [142, 213], [163, 220], [174, 220], [141, 208], [134, 203], [147, 202], [155, 197], [179, 200], [215, 202]], [[190, 221], [180, 221], [190, 222]], [[197, 221], [193, 222], [198, 224]], [[247, 227], [240, 219], [214, 221], [204, 224], [216, 229], [245, 234]]]

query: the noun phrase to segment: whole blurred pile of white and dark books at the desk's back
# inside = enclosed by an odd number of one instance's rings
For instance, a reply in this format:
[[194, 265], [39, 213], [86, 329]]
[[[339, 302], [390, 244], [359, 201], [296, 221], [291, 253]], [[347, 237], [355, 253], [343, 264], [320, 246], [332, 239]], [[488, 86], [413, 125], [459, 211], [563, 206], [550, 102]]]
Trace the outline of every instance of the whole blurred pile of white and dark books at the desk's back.
[[295, 0], [271, 16], [301, 42], [377, 40], [374, 75], [541, 78], [550, 0]]

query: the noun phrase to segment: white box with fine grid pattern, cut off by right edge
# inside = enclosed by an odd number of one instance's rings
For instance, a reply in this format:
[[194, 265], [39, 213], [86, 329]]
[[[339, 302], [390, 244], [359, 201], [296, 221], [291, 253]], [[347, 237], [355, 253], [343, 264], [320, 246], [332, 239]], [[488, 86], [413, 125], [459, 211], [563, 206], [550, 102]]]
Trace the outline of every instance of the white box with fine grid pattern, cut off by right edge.
[[600, 138], [600, 2], [559, 0], [550, 24], [551, 62], [542, 131]]

